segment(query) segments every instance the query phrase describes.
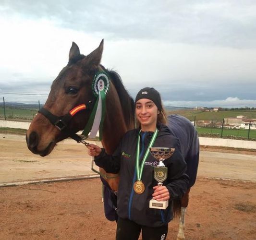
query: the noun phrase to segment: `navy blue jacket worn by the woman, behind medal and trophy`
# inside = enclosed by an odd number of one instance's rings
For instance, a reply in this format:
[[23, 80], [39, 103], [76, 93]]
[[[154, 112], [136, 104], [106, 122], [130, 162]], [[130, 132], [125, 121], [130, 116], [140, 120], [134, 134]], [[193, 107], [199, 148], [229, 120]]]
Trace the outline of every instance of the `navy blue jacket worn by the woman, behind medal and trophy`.
[[[154, 192], [153, 187], [158, 183], [154, 179], [154, 166], [158, 165], [158, 161], [150, 154], [146, 159], [142, 174], [145, 192], [137, 194], [133, 189], [134, 182], [137, 180], [135, 159], [139, 129], [128, 131], [112, 156], [107, 155], [102, 149], [101, 154], [95, 157], [96, 165], [104, 168], [106, 172], [120, 173], [117, 198], [118, 216], [148, 227], [159, 227], [171, 221], [173, 217], [172, 200], [181, 198], [187, 191], [189, 184], [189, 177], [185, 174], [187, 165], [181, 154], [178, 139], [163, 124], [158, 125], [158, 130], [158, 136], [153, 146], [175, 148], [173, 155], [164, 161], [168, 168], [168, 177], [163, 185], [167, 187], [171, 196], [169, 206], [165, 210], [149, 208], [149, 201]], [[153, 132], [141, 132], [140, 134], [140, 160], [142, 160]]]

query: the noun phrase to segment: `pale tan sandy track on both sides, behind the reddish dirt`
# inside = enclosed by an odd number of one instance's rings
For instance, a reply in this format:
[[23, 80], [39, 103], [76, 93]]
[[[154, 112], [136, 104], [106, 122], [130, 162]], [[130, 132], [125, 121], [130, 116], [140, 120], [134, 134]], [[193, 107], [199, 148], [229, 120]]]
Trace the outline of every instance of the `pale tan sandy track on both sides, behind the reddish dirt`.
[[[201, 150], [198, 176], [256, 181], [256, 152], [220, 151], [210, 147]], [[85, 146], [72, 139], [62, 141], [49, 156], [41, 157], [27, 149], [23, 135], [0, 134], [0, 153], [0, 186], [26, 180], [95, 175]], [[94, 168], [98, 170], [95, 165]]]

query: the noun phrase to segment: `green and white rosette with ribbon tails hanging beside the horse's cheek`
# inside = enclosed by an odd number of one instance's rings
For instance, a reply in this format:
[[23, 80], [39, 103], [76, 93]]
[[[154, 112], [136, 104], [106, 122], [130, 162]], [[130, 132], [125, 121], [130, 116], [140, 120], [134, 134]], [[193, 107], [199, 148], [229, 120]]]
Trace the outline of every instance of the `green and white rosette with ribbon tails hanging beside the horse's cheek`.
[[106, 72], [99, 71], [95, 74], [92, 82], [92, 90], [97, 97], [90, 118], [85, 126], [83, 135], [95, 138], [99, 131], [99, 139], [102, 138], [102, 128], [106, 111], [106, 95], [110, 90], [110, 80]]

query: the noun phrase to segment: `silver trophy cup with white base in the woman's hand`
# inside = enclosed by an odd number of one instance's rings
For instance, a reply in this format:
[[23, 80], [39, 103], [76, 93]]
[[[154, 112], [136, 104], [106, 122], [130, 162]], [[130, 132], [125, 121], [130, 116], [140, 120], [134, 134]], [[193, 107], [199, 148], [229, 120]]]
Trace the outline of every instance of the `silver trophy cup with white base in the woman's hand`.
[[[150, 147], [149, 151], [153, 157], [155, 157], [159, 164], [154, 167], [154, 178], [158, 181], [158, 187], [163, 185], [163, 181], [167, 179], [167, 168], [165, 167], [163, 161], [172, 156], [175, 148], [171, 147]], [[151, 199], [149, 201], [150, 208], [166, 209], [168, 207], [168, 200], [157, 201]]]

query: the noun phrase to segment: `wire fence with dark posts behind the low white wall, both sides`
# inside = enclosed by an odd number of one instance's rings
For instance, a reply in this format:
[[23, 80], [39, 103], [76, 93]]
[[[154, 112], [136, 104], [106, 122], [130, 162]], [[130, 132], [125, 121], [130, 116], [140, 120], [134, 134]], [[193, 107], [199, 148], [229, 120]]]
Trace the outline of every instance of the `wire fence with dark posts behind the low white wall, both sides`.
[[[45, 101], [34, 100], [27, 103], [0, 99], [0, 119], [33, 120]], [[197, 120], [188, 117], [194, 124], [199, 136], [231, 138], [256, 141], [256, 119], [225, 118], [222, 120]]]

